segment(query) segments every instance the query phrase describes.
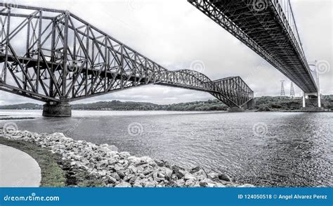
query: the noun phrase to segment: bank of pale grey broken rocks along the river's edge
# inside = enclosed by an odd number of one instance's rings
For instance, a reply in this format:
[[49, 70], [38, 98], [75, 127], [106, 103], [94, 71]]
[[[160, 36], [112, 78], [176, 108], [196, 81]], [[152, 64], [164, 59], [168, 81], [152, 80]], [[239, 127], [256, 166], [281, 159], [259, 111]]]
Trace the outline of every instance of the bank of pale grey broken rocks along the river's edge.
[[62, 133], [37, 134], [30, 131], [3, 133], [4, 138], [27, 141], [48, 148], [70, 162], [72, 172], [85, 171], [89, 178], [107, 187], [253, 187], [236, 184], [226, 174], [204, 171], [202, 167], [184, 169], [151, 157], [118, 152], [116, 146], [74, 141]]

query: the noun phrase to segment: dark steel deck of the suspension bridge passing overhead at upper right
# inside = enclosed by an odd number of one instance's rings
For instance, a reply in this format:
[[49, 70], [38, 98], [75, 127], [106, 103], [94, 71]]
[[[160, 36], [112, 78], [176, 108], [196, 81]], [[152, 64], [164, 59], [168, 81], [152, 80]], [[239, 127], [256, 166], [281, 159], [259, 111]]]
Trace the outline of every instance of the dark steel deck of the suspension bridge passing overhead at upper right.
[[188, 0], [304, 92], [317, 92], [289, 0]]

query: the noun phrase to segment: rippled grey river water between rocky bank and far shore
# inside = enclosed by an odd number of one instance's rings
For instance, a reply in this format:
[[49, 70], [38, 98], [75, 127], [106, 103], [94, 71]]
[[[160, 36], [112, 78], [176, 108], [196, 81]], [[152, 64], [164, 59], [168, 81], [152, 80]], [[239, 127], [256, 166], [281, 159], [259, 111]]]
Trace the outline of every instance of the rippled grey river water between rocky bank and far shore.
[[20, 130], [63, 132], [256, 186], [333, 186], [333, 113], [0, 110]]

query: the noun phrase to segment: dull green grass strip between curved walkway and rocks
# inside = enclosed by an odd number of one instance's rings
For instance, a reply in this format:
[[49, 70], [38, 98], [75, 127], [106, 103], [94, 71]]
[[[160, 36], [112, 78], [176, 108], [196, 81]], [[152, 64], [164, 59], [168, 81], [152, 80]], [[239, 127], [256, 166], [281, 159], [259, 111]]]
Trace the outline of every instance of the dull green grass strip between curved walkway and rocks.
[[1, 136], [0, 144], [22, 150], [38, 162], [41, 168], [41, 187], [102, 186], [100, 181], [91, 179], [88, 172], [72, 168], [70, 162], [62, 160], [60, 155], [51, 153], [46, 148], [26, 141], [8, 140]]

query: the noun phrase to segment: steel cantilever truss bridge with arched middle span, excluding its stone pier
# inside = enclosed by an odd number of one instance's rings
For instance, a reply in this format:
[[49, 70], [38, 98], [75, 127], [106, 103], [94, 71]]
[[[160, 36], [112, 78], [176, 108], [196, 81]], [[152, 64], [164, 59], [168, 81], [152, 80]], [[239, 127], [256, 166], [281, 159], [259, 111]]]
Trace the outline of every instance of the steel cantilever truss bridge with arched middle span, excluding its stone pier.
[[254, 93], [240, 77], [169, 71], [68, 11], [0, 4], [0, 89], [46, 103], [161, 84], [207, 91], [230, 107]]

